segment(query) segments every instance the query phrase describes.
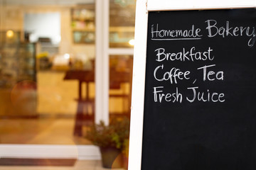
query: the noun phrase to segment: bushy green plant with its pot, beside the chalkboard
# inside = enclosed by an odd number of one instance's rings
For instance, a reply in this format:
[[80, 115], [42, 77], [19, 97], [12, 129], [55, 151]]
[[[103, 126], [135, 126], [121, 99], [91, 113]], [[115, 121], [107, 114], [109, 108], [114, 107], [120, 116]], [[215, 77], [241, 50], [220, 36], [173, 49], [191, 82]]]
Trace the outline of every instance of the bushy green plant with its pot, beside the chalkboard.
[[[120, 168], [124, 166], [124, 157], [127, 157], [129, 145], [128, 118], [114, 119], [110, 125], [105, 125], [103, 121], [92, 125], [86, 138], [100, 147], [103, 167]], [[117, 159], [119, 161], [114, 162]]]

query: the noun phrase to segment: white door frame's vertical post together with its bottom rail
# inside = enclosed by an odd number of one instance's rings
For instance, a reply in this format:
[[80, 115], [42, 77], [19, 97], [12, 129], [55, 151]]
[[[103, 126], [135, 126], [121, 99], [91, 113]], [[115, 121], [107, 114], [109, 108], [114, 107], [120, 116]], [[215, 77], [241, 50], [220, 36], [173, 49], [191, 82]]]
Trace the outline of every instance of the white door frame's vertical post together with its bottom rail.
[[[1, 2], [1, 0], [0, 0]], [[0, 8], [4, 4], [0, 4]], [[108, 123], [108, 1], [95, 0], [96, 12], [96, 74], [95, 122]], [[107, 84], [107, 85], [106, 85]], [[94, 145], [0, 145], [0, 158], [75, 158], [100, 159], [100, 149]]]

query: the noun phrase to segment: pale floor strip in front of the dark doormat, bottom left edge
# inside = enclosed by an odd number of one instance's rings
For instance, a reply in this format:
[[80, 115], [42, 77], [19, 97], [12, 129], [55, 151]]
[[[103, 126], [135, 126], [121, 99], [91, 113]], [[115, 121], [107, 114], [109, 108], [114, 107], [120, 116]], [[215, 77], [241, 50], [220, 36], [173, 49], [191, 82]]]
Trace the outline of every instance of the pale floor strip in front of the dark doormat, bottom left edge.
[[[0, 166], [0, 170], [110, 170], [102, 168], [99, 160], [80, 160], [75, 166]], [[114, 169], [124, 170], [124, 169]]]

